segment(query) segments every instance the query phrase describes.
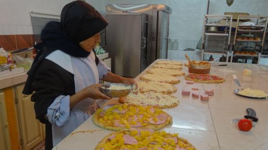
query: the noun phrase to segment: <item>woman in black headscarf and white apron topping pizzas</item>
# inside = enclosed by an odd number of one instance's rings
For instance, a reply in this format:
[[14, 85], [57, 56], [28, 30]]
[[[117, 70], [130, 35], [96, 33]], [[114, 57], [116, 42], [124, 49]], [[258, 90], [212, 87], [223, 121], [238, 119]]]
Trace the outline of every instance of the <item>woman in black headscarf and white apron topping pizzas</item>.
[[107, 25], [94, 7], [77, 0], [63, 7], [60, 22], [47, 23], [41, 32], [23, 94], [32, 94], [36, 118], [45, 124], [45, 150], [96, 112], [96, 99], [111, 99], [98, 90], [99, 80], [136, 84], [111, 73], [94, 52]]

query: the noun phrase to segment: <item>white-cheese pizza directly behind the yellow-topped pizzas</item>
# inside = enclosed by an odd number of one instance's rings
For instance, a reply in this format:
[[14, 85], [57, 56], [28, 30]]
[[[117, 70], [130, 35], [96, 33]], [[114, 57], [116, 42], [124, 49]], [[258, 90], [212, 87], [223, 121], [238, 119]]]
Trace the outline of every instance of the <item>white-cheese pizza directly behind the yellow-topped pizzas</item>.
[[138, 93], [128, 94], [125, 97], [119, 98], [120, 103], [128, 103], [130, 105], [138, 106], [153, 106], [155, 108], [173, 108], [179, 104], [179, 99], [175, 96], [161, 94], [161, 93]]

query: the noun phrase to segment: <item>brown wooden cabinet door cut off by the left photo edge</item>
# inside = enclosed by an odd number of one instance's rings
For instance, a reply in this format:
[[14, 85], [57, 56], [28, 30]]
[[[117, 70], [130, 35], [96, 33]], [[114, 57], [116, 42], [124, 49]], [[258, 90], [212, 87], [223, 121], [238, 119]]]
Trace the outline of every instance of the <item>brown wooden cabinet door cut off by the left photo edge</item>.
[[0, 150], [10, 150], [4, 93], [0, 91]]

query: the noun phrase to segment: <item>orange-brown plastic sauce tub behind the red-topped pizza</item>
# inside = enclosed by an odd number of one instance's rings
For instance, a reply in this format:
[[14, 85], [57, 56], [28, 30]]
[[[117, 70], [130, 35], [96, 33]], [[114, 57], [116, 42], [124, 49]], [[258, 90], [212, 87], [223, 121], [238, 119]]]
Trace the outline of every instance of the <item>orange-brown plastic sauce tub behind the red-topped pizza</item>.
[[189, 62], [189, 73], [209, 74], [211, 72], [211, 63], [209, 61], [191, 61]]

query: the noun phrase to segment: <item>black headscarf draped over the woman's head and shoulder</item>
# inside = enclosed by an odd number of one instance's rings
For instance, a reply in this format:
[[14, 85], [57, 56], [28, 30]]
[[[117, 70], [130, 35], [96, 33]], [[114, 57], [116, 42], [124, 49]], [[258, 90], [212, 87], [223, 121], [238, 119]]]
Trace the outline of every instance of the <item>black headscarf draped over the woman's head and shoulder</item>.
[[[34, 59], [23, 94], [32, 94], [34, 75], [42, 60], [56, 50], [76, 57], [87, 57], [90, 52], [83, 50], [79, 42], [88, 39], [108, 25], [108, 21], [99, 14], [90, 4], [77, 0], [65, 5], [60, 14], [60, 22], [51, 21], [43, 28], [41, 43], [34, 47], [38, 54]], [[95, 55], [96, 56], [96, 55]], [[98, 58], [96, 57], [96, 64]]]

